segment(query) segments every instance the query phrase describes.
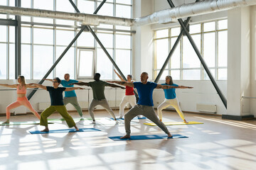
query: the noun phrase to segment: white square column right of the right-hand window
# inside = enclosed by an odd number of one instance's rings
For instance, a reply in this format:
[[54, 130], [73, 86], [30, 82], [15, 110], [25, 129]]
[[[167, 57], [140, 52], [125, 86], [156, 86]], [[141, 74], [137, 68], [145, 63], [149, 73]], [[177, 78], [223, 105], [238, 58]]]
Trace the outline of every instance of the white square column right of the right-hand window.
[[228, 11], [228, 115], [250, 115], [250, 6]]

